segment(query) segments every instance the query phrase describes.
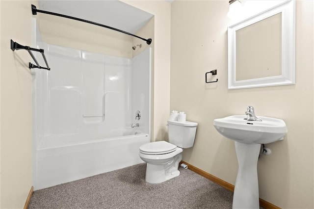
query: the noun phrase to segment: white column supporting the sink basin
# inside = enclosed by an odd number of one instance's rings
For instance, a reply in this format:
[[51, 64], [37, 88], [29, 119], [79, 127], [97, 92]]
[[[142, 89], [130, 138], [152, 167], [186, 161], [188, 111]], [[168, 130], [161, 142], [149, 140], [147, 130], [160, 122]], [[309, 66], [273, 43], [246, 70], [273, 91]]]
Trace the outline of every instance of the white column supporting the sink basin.
[[239, 168], [235, 181], [233, 209], [260, 209], [257, 161], [261, 144], [245, 144], [235, 141]]

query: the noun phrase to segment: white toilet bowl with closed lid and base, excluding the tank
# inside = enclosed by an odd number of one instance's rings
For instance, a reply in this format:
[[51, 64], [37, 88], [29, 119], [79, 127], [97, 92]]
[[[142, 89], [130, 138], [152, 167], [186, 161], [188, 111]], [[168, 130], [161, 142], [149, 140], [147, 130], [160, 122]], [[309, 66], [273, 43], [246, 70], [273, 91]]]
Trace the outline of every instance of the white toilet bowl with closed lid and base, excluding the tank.
[[180, 175], [182, 148], [166, 141], [144, 144], [139, 157], [147, 162], [145, 180], [148, 183], [162, 183]]

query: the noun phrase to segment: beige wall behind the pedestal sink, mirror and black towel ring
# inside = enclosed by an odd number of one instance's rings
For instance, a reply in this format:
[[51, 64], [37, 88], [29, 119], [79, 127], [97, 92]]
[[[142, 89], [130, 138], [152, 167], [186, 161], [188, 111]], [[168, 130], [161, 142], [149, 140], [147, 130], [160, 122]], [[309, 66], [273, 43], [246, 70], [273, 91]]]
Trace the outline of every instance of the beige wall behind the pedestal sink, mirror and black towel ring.
[[[253, 105], [256, 114], [283, 119], [285, 140], [267, 144], [272, 151], [258, 162], [260, 197], [281, 208], [314, 208], [313, 133], [313, 1], [297, 1], [296, 84], [228, 90], [228, 1], [181, 1], [171, 6], [170, 108], [198, 122], [193, 148], [183, 160], [235, 184], [234, 142], [221, 136], [213, 119], [243, 114]], [[217, 69], [216, 83], [205, 73]]]

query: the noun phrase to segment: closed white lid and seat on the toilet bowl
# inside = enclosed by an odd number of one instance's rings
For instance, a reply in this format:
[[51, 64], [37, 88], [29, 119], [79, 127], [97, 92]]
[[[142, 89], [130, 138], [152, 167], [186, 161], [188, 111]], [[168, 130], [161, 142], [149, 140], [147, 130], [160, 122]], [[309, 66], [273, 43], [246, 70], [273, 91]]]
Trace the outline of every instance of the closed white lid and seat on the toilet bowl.
[[156, 141], [143, 144], [139, 147], [139, 151], [146, 155], [161, 155], [174, 152], [177, 149], [176, 145], [170, 144], [166, 141]]

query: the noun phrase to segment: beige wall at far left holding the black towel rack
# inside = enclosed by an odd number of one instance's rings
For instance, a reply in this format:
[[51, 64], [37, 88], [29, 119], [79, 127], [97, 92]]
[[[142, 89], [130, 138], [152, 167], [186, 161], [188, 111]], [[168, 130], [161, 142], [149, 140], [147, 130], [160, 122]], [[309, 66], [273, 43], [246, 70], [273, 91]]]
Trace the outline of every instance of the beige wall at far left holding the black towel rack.
[[32, 186], [31, 57], [25, 50], [13, 52], [10, 39], [31, 45], [30, 0], [1, 0], [1, 204], [23, 208]]

